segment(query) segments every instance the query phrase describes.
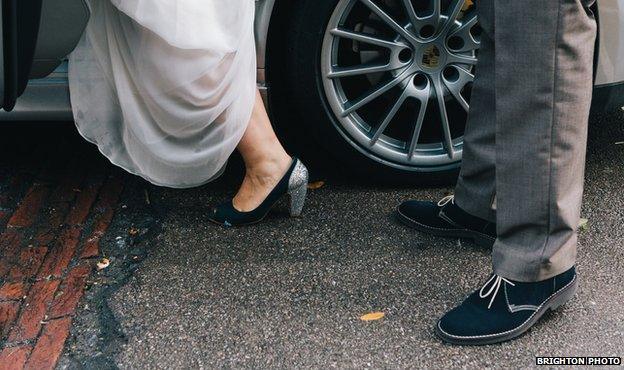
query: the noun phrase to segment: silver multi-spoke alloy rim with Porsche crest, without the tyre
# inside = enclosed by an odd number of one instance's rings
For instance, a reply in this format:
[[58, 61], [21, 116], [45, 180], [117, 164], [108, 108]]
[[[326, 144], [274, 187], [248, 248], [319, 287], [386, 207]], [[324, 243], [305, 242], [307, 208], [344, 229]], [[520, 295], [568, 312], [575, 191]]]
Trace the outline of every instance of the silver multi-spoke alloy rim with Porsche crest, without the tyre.
[[480, 45], [476, 12], [465, 0], [414, 5], [338, 1], [323, 40], [323, 90], [339, 132], [367, 157], [403, 170], [456, 167]]

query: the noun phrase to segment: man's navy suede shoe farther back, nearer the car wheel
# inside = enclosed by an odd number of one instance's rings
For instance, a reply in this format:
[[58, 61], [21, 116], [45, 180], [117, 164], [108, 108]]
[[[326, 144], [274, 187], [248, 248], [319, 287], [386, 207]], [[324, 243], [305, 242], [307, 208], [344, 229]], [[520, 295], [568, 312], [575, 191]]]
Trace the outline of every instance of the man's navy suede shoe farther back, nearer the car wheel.
[[472, 216], [455, 204], [452, 195], [438, 203], [409, 200], [397, 210], [402, 223], [424, 233], [450, 238], [471, 239], [477, 245], [492, 247], [496, 240], [496, 224]]

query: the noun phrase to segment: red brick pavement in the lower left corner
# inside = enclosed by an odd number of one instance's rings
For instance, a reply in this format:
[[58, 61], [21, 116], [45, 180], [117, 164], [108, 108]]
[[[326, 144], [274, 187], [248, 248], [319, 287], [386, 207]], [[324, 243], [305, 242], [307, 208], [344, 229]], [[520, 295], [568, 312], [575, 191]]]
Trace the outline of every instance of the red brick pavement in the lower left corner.
[[0, 370], [54, 368], [123, 188], [102, 161], [42, 154], [0, 172]]

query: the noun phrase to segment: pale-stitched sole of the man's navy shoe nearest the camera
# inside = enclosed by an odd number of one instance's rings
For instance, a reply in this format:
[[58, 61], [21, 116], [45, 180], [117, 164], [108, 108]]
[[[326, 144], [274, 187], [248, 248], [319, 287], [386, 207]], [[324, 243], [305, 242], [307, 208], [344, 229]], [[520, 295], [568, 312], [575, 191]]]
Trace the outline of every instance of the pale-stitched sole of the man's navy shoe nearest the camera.
[[572, 297], [574, 297], [577, 288], [578, 279], [576, 278], [576, 276], [574, 276], [574, 278], [568, 283], [568, 285], [553, 293], [553, 295], [545, 300], [544, 303], [542, 303], [540, 307], [535, 311], [535, 313], [529, 319], [527, 319], [527, 321], [525, 321], [522, 325], [518, 326], [515, 329], [498, 334], [462, 337], [446, 333], [444, 330], [442, 330], [442, 328], [440, 328], [440, 322], [438, 321], [438, 324], [436, 325], [436, 335], [447, 343], [462, 346], [483, 346], [488, 344], [507, 342], [529, 331], [529, 329], [531, 329], [531, 327], [535, 325], [535, 323], [538, 322], [539, 319], [541, 319], [546, 312], [554, 311], [557, 308], [566, 304], [570, 299], [572, 299]]

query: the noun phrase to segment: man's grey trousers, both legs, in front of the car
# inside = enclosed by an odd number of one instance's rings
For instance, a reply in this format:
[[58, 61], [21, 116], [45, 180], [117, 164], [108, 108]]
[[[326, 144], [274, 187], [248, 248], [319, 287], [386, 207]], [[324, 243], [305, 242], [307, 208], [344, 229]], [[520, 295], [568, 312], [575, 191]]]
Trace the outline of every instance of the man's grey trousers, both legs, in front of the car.
[[497, 223], [494, 272], [541, 281], [576, 259], [593, 0], [478, 0], [483, 32], [463, 164], [466, 212]]

